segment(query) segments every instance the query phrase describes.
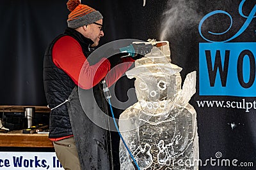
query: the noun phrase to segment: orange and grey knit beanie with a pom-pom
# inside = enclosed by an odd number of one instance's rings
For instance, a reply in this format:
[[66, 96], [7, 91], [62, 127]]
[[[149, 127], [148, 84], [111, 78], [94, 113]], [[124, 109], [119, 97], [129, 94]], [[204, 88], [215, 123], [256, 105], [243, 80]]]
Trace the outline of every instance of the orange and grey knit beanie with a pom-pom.
[[68, 0], [67, 8], [71, 11], [67, 20], [68, 27], [73, 29], [92, 24], [103, 18], [99, 11], [81, 4], [79, 0]]

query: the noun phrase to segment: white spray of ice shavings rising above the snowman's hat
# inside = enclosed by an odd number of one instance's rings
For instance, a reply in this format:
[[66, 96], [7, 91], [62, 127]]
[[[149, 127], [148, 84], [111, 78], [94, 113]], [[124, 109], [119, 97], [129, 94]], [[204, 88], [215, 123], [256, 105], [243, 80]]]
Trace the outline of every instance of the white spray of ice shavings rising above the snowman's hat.
[[193, 27], [200, 22], [200, 15], [196, 12], [197, 4], [192, 0], [169, 0], [163, 13], [160, 40]]

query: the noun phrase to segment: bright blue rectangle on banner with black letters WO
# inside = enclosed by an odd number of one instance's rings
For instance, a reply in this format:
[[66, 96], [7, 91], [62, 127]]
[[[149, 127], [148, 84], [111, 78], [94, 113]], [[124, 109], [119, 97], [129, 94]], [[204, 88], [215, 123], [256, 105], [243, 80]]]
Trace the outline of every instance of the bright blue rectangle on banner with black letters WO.
[[200, 96], [255, 97], [256, 43], [199, 43]]

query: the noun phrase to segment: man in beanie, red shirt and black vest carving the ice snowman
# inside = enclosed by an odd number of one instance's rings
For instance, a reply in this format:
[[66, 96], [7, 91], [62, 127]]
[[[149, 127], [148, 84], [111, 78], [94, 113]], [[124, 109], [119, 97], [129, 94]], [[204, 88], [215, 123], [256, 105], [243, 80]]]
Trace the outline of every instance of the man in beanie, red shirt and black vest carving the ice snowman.
[[[69, 0], [67, 7], [71, 11], [68, 27], [64, 34], [52, 41], [44, 57], [45, 96], [51, 108], [49, 139], [53, 141], [56, 155], [65, 169], [113, 169], [109, 132], [86, 117], [77, 89], [84, 92], [93, 89], [99, 108], [108, 113], [100, 82], [111, 68], [123, 62], [122, 66], [115, 67], [115, 71], [111, 70], [107, 83], [112, 85], [134, 59], [102, 57], [98, 62], [90, 63], [91, 47], [99, 45], [104, 36], [103, 17], [99, 11], [79, 0]], [[94, 114], [95, 107], [89, 107], [86, 112]]]

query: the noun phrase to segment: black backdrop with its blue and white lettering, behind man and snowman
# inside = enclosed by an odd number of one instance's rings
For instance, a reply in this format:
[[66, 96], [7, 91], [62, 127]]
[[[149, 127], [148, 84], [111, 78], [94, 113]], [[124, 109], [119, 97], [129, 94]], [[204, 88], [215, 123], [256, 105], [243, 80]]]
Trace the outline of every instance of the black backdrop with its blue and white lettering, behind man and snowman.
[[[1, 3], [1, 104], [46, 105], [42, 83], [44, 50], [54, 36], [65, 30], [65, 3]], [[196, 94], [190, 103], [197, 113], [199, 169], [255, 169], [255, 0], [82, 3], [104, 16], [100, 45], [125, 38], [168, 40], [173, 64], [183, 68], [182, 78], [196, 71]], [[132, 87], [132, 80], [123, 77], [118, 81], [118, 99], [129, 100], [127, 89]], [[115, 110], [116, 115], [121, 112]], [[118, 142], [116, 136], [113, 143]], [[115, 152], [118, 168], [118, 147]]]

